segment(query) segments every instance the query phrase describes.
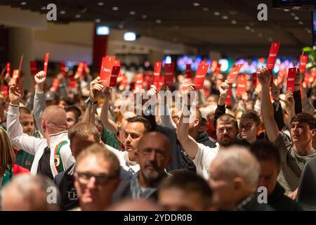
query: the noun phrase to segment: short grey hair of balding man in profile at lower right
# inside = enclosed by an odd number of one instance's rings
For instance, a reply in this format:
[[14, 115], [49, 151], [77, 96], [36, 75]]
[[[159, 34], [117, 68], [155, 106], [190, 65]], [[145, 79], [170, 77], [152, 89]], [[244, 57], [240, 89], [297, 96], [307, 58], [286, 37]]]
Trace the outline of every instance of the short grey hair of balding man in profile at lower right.
[[245, 147], [231, 146], [217, 155], [220, 170], [229, 177], [240, 176], [249, 187], [256, 188], [261, 167], [255, 156]]

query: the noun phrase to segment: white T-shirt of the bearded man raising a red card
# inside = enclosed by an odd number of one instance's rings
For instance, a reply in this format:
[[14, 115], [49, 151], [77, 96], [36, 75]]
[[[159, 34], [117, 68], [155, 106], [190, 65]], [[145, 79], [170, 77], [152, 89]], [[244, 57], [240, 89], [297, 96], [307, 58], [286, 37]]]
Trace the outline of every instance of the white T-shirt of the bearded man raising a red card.
[[195, 159], [192, 161], [195, 163], [195, 167], [197, 167], [197, 174], [204, 179], [209, 179], [209, 165], [216, 158], [218, 146], [210, 148], [209, 146], [204, 146], [202, 143], [197, 143], [197, 145], [199, 146], [197, 155], [195, 155]]

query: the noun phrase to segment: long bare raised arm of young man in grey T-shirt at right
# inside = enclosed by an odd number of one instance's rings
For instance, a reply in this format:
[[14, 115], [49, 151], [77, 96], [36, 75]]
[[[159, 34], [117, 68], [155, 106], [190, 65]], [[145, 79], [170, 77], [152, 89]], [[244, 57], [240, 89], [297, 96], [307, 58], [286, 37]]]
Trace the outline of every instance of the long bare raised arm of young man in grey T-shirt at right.
[[261, 91], [261, 115], [263, 123], [268, 134], [268, 139], [274, 142], [279, 136], [279, 129], [275, 118], [273, 117], [273, 107], [270, 100], [270, 72], [267, 68], [263, 68], [257, 74], [258, 80], [262, 86]]

